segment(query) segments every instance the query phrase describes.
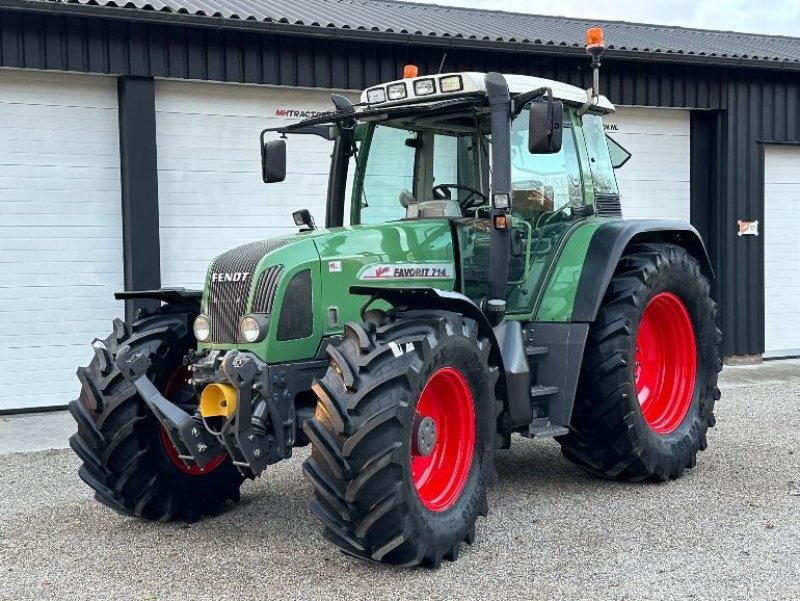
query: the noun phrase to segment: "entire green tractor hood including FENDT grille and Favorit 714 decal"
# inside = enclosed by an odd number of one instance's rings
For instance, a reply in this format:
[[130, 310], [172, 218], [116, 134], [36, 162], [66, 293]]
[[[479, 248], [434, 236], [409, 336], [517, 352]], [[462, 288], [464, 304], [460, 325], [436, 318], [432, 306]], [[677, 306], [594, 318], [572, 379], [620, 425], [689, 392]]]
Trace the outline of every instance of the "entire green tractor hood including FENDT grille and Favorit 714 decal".
[[[203, 312], [206, 348], [240, 348], [275, 363], [311, 359], [323, 337], [360, 320], [366, 297], [352, 285], [434, 286], [456, 281], [446, 219], [359, 225], [290, 234], [234, 248], [208, 270]], [[239, 321], [255, 314], [265, 335], [245, 343]]]

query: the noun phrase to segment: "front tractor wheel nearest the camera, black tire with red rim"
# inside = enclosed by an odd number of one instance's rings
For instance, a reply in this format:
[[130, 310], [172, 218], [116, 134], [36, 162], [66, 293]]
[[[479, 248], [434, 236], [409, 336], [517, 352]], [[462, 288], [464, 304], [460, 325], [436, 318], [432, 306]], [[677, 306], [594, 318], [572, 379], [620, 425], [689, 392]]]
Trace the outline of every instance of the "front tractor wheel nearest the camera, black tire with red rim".
[[356, 557], [455, 561], [496, 477], [490, 343], [474, 321], [445, 311], [381, 313], [345, 334], [329, 347], [305, 425], [311, 510], [325, 537]]

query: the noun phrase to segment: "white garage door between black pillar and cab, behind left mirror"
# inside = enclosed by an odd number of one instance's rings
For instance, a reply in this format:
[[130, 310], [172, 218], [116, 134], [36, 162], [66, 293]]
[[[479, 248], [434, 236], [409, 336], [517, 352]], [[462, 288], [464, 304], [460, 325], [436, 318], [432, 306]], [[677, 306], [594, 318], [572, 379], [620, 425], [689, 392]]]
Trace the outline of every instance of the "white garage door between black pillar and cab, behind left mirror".
[[296, 231], [291, 214], [297, 209], [309, 209], [324, 223], [332, 143], [318, 136], [289, 136], [286, 181], [267, 185], [261, 180], [259, 134], [300, 115], [330, 110], [330, 94], [157, 82], [165, 286], [202, 288], [214, 256], [245, 242]]

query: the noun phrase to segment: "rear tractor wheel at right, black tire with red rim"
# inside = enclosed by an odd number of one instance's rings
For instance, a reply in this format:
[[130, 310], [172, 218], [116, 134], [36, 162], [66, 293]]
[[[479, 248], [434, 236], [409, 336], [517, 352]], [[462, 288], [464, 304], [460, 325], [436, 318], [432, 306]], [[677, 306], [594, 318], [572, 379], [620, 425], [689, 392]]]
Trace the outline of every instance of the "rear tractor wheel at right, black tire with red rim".
[[613, 480], [662, 482], [694, 467], [720, 398], [715, 320], [686, 250], [627, 249], [589, 328], [564, 456]]

